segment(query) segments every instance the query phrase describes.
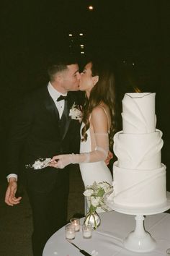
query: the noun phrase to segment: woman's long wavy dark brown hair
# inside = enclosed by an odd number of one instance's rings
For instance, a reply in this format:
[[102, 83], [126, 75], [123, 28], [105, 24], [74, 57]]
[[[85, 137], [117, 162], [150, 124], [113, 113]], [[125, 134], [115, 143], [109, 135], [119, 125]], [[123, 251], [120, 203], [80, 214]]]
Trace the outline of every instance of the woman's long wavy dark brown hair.
[[112, 148], [113, 136], [116, 131], [116, 120], [115, 120], [115, 111], [116, 111], [116, 101], [115, 101], [115, 74], [112, 70], [112, 67], [108, 64], [104, 64], [96, 60], [90, 60], [88, 63], [91, 63], [91, 74], [92, 77], [98, 75], [99, 81], [94, 88], [92, 88], [89, 95], [89, 99], [86, 97], [84, 104], [84, 115], [82, 121], [84, 122], [84, 128], [81, 131], [82, 141], [87, 140], [86, 131], [89, 129], [89, 117], [92, 110], [99, 106], [101, 102], [105, 103], [109, 107], [109, 112], [111, 116], [111, 127], [109, 129], [109, 148]]

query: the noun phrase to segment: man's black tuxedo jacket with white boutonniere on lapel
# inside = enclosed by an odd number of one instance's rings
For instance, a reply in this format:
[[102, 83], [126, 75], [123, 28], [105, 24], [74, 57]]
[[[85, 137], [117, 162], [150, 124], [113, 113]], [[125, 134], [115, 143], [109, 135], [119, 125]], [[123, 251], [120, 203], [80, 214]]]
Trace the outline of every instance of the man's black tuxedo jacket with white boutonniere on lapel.
[[[79, 152], [80, 123], [69, 116], [73, 103], [79, 104], [77, 95], [76, 92], [68, 93], [68, 101], [65, 103], [61, 119], [47, 87], [40, 88], [24, 98], [12, 121], [7, 174], [18, 174], [21, 162], [34, 163], [37, 158]], [[34, 179], [35, 173], [40, 173], [33, 170], [27, 172], [32, 177], [30, 179]]]

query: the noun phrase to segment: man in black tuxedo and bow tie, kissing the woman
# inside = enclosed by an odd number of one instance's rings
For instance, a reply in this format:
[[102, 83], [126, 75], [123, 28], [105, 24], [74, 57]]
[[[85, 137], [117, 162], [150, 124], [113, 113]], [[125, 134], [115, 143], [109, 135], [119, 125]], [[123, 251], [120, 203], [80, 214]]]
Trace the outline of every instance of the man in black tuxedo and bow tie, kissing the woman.
[[[16, 197], [19, 165], [34, 163], [38, 158], [79, 153], [78, 120], [71, 119], [69, 110], [79, 104], [79, 66], [72, 58], [56, 59], [48, 69], [50, 82], [22, 102], [12, 122], [8, 145], [8, 187], [5, 202], [17, 205]], [[74, 146], [74, 148], [73, 148]], [[32, 207], [34, 256], [42, 256], [49, 237], [66, 223], [68, 203], [68, 168], [47, 167], [26, 169], [27, 194]]]

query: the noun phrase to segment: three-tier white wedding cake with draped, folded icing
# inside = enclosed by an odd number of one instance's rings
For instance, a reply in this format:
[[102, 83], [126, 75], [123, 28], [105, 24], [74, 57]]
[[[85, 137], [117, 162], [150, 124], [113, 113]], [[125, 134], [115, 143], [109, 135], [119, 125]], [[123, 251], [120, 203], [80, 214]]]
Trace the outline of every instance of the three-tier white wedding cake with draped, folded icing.
[[126, 93], [122, 131], [114, 137], [110, 198], [122, 207], [156, 207], [166, 202], [166, 166], [161, 163], [162, 132], [156, 129], [156, 93]]

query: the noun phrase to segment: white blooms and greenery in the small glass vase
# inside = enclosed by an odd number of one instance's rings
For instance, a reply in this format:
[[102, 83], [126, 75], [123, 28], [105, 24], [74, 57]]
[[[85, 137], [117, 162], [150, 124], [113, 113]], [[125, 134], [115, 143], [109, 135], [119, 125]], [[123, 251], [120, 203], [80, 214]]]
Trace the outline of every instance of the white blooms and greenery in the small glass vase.
[[107, 182], [94, 182], [91, 186], [87, 186], [84, 191], [84, 196], [89, 200], [89, 212], [95, 212], [97, 208], [102, 208], [102, 210], [109, 210], [107, 205], [104, 203], [104, 195], [106, 193], [112, 192], [112, 186]]

